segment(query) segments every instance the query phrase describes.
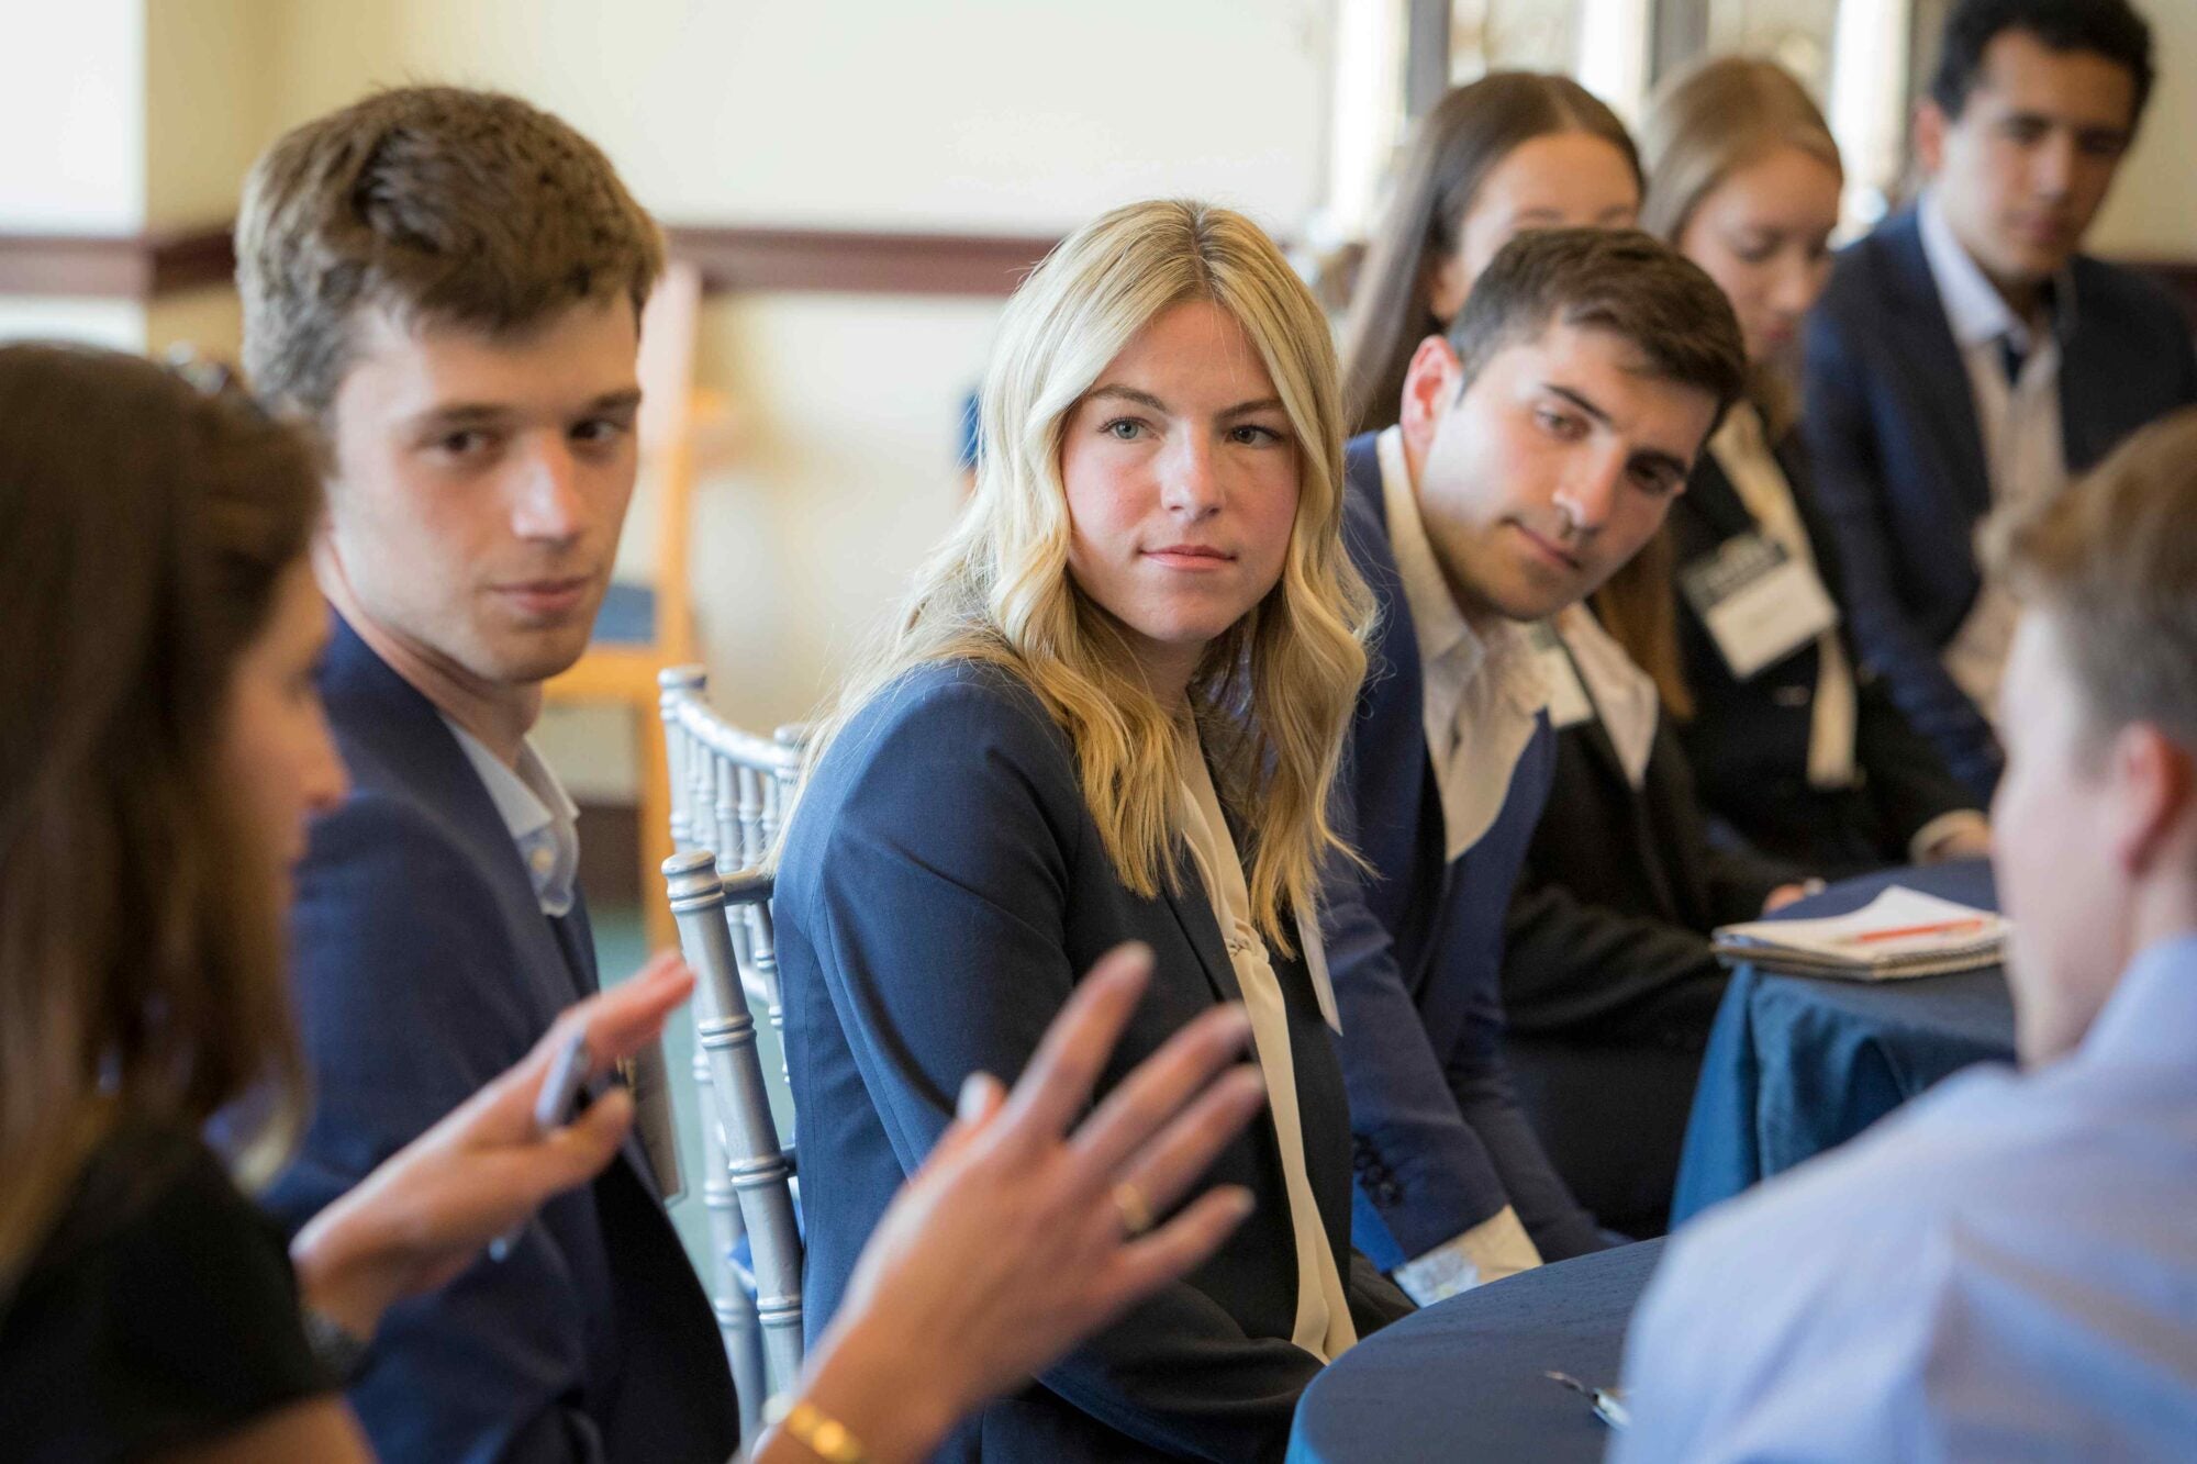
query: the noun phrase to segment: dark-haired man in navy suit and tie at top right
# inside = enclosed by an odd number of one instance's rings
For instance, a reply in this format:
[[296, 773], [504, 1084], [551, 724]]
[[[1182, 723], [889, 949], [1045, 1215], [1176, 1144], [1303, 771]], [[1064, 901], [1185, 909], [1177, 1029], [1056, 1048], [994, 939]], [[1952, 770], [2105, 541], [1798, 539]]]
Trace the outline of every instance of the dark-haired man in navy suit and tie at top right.
[[1962, 0], [1916, 108], [1916, 207], [1839, 255], [1806, 332], [1806, 435], [1861, 653], [1988, 796], [2012, 635], [1971, 539], [2197, 400], [2190, 323], [2078, 253], [2151, 92], [2127, 0]]

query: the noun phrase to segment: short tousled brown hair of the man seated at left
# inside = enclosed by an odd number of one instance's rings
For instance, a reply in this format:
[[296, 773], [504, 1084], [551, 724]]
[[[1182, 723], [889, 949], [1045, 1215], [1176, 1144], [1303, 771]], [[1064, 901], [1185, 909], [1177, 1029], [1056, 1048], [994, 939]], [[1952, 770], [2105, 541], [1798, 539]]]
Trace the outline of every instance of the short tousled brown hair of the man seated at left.
[[455, 86], [387, 90], [253, 165], [237, 213], [244, 365], [261, 400], [319, 420], [360, 306], [505, 334], [613, 292], [639, 314], [661, 270], [655, 222], [556, 117]]

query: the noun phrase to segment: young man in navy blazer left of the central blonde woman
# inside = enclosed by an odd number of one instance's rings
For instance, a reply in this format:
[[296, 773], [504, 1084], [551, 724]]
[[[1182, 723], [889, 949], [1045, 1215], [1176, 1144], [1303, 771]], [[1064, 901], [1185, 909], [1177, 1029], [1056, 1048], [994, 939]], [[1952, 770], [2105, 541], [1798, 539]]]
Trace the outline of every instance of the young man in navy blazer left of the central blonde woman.
[[[380, 92], [246, 185], [246, 365], [327, 446], [321, 695], [352, 769], [297, 875], [316, 1103], [266, 1196], [292, 1227], [595, 989], [573, 807], [527, 728], [609, 583], [659, 268], [609, 160], [510, 97]], [[734, 1451], [723, 1345], [663, 1213], [668, 1145], [644, 1143], [661, 1090], [635, 1099], [591, 1187], [389, 1315], [349, 1389], [382, 1457]]]

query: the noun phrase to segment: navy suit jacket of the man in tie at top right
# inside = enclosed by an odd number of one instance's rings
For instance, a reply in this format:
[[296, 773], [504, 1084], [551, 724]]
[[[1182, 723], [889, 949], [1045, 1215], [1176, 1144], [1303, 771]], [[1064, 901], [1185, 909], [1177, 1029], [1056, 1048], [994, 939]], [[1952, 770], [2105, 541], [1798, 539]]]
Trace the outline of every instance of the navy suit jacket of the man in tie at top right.
[[[2067, 470], [2083, 473], [2127, 433], [2197, 400], [2197, 354], [2162, 290], [2087, 257], [2072, 268], [2061, 431]], [[1916, 732], [1988, 798], [1997, 739], [1938, 657], [1982, 587], [1973, 536], [1990, 479], [1914, 209], [1839, 253], [1808, 317], [1806, 361], [1802, 433], [1845, 561], [1854, 637]]]

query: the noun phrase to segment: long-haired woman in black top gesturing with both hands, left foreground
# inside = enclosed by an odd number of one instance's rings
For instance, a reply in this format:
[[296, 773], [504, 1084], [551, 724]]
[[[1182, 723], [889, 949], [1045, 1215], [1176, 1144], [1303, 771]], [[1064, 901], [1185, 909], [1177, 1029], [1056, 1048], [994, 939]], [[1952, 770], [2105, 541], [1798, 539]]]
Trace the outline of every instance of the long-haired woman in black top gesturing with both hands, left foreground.
[[[312, 446], [239, 398], [127, 356], [0, 347], [0, 611], [15, 631], [0, 648], [0, 1438], [13, 1460], [367, 1457], [341, 1387], [373, 1365], [382, 1317], [615, 1161], [633, 1101], [600, 1079], [692, 989], [666, 956], [569, 1007], [283, 1253], [233, 1169], [279, 1158], [310, 1090], [281, 919], [305, 820], [345, 791], [314, 692], [319, 510]], [[1191, 1022], [1063, 1141], [1147, 967], [1136, 950], [1101, 961], [1013, 1095], [984, 1075], [962, 1084], [784, 1427], [754, 1440], [758, 1464], [850, 1438], [870, 1460], [925, 1457], [958, 1413], [1233, 1229], [1244, 1196], [1228, 1189], [1142, 1238], [1105, 1200], [1136, 1185], [1175, 1205], [1257, 1112], [1254, 1075], [1211, 1082], [1241, 1051], [1241, 1011]], [[540, 1134], [538, 1093], [576, 1038], [595, 1097]], [[239, 1099], [259, 1121], [226, 1128], [237, 1152], [211, 1150], [202, 1125]], [[688, 1440], [648, 1457], [723, 1455]]]

